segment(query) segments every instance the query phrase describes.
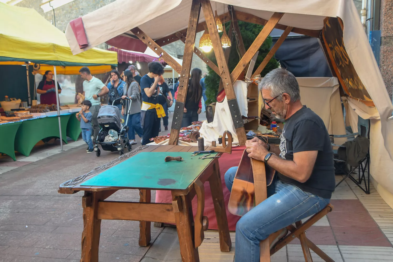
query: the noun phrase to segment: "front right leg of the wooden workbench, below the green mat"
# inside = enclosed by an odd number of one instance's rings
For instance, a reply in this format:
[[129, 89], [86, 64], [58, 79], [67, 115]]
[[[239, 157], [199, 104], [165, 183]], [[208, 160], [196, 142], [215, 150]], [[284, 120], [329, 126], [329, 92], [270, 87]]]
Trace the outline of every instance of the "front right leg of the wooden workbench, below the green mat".
[[198, 249], [195, 248], [194, 242], [194, 228], [192, 226], [194, 217], [191, 199], [188, 195], [176, 196], [172, 192], [172, 203], [177, 203], [178, 205], [178, 208], [174, 206], [174, 217], [182, 261], [199, 262]]

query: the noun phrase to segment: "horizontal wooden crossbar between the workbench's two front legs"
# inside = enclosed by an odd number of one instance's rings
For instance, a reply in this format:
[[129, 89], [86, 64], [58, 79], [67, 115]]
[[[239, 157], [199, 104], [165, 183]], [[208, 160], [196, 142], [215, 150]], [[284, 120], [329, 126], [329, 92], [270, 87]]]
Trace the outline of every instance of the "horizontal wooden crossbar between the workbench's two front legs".
[[166, 203], [99, 201], [97, 219], [175, 223], [172, 204]]

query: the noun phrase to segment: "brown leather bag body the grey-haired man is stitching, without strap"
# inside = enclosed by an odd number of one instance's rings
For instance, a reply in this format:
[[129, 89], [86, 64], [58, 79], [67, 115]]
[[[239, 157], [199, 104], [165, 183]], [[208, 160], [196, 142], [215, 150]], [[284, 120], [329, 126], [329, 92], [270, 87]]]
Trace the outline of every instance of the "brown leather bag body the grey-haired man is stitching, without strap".
[[[228, 203], [228, 209], [234, 215], [243, 216], [255, 207], [254, 183], [256, 181], [254, 181], [252, 164], [254, 163], [255, 165], [256, 161], [258, 160], [249, 158], [248, 153], [244, 150], [235, 179], [233, 180]], [[264, 172], [266, 173], [266, 187], [272, 183], [275, 170], [269, 165], [264, 165]]]

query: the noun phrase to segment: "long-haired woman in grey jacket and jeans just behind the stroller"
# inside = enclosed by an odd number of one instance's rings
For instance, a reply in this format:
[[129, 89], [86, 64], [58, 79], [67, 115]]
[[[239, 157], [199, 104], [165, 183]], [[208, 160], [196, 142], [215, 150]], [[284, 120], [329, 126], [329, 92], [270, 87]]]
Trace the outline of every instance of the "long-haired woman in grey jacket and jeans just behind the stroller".
[[127, 114], [127, 110], [129, 108], [128, 103], [131, 103], [127, 123], [127, 125], [129, 126], [128, 139], [130, 140], [130, 145], [135, 145], [135, 132], [140, 138], [143, 137], [143, 129], [141, 127], [141, 99], [139, 95], [141, 92], [141, 88], [139, 87], [138, 82], [136, 82], [136, 80], [134, 79], [132, 71], [130, 70], [124, 71], [124, 80], [126, 82], [126, 85], [124, 86], [122, 98], [125, 99], [125, 97], [129, 97], [131, 99], [131, 102], [125, 100], [127, 103], [125, 103], [121, 108], [121, 114]]

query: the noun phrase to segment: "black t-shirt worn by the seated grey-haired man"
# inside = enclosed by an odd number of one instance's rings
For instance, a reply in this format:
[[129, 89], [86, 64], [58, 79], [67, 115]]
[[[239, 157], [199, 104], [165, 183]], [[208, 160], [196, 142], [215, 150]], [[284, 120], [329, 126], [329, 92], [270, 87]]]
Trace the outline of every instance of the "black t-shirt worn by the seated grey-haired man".
[[300, 183], [282, 174], [278, 174], [278, 177], [281, 181], [296, 185], [303, 191], [322, 198], [331, 198], [335, 178], [329, 133], [322, 119], [310, 108], [303, 106], [285, 121], [280, 142], [280, 157], [293, 160], [294, 153], [314, 150], [318, 150], [318, 155], [309, 180]]

